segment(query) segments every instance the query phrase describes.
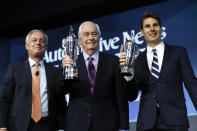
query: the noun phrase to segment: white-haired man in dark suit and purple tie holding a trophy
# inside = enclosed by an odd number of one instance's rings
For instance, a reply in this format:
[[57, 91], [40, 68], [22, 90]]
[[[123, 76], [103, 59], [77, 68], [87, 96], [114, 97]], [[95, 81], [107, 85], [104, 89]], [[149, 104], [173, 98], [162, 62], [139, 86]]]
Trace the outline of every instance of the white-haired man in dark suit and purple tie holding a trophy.
[[[79, 78], [65, 81], [66, 92], [70, 94], [66, 131], [118, 131], [129, 127], [119, 59], [99, 52], [100, 34], [99, 26], [93, 22], [84, 22], [79, 27], [83, 48], [76, 62]], [[73, 61], [65, 56], [62, 64], [70, 66]]]

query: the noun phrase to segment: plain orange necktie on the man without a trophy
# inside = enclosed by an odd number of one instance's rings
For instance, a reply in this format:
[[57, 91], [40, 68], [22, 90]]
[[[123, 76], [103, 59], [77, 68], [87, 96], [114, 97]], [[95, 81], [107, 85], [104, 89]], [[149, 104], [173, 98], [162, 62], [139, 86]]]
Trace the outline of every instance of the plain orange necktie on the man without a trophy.
[[32, 119], [37, 123], [41, 119], [39, 63], [35, 64], [32, 76]]

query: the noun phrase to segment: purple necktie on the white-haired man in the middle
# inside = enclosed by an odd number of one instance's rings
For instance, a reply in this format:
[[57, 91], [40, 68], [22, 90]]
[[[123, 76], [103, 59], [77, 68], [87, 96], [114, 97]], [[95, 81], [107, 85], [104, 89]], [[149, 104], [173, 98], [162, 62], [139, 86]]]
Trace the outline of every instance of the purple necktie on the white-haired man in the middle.
[[91, 93], [93, 93], [95, 79], [96, 79], [96, 70], [95, 70], [94, 64], [92, 63], [93, 60], [94, 58], [91, 56], [88, 58], [88, 78], [89, 78], [90, 85], [91, 85], [91, 88], [90, 88]]

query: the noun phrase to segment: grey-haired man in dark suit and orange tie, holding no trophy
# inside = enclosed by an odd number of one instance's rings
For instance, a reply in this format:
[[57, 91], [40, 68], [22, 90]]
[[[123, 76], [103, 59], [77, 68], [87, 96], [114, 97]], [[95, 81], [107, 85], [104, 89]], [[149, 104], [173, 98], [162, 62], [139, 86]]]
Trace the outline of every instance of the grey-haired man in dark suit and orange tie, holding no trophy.
[[32, 30], [25, 42], [28, 59], [8, 66], [0, 88], [0, 131], [63, 129], [66, 103], [59, 92], [61, 72], [43, 60], [47, 35]]

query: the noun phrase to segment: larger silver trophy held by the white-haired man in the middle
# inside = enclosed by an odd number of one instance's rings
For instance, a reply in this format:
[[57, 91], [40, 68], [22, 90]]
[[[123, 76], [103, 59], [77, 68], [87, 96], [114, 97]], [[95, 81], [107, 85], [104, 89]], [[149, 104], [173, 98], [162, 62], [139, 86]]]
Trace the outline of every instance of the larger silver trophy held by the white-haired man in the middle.
[[62, 39], [62, 47], [65, 49], [66, 55], [72, 60], [72, 66], [64, 67], [64, 79], [75, 79], [78, 78], [78, 68], [76, 65], [77, 51], [79, 49], [79, 42], [76, 35], [73, 33], [72, 25], [70, 26], [69, 35]]

